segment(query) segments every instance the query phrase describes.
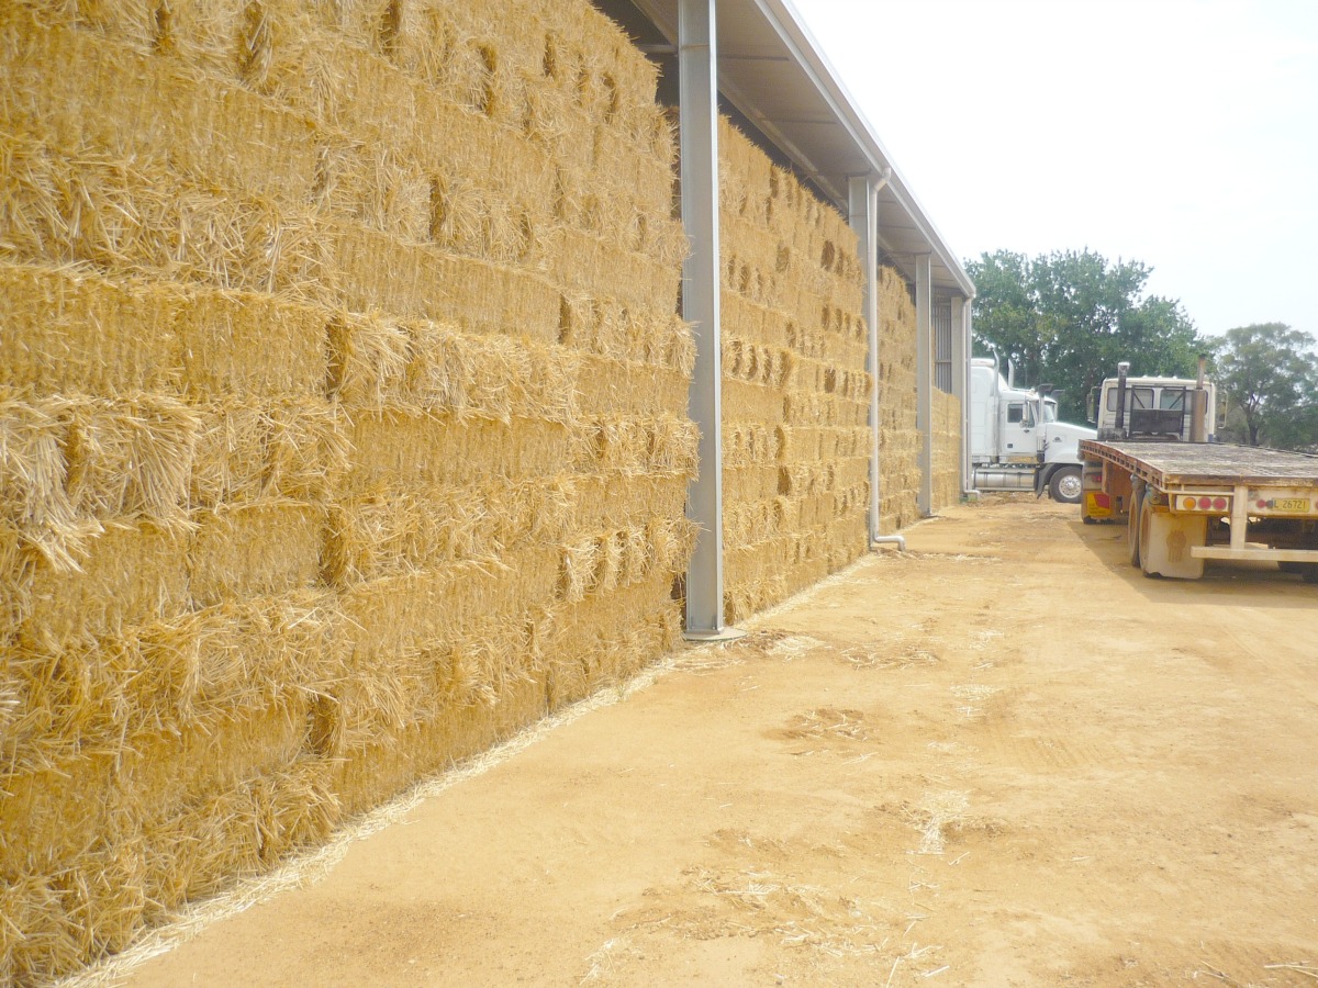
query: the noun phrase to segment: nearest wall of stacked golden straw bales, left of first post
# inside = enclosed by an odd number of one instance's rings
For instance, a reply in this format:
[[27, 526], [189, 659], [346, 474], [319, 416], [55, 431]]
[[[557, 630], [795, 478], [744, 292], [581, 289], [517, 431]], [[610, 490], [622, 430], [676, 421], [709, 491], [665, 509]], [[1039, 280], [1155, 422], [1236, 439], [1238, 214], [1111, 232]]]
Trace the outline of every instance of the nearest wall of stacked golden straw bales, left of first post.
[[677, 632], [655, 75], [584, 0], [0, 5], [0, 983]]

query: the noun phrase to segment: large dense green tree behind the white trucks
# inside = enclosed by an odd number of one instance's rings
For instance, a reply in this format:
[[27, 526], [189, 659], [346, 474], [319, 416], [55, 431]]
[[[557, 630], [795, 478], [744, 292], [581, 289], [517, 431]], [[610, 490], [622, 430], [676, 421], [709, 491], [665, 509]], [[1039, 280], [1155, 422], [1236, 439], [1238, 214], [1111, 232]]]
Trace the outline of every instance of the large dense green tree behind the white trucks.
[[1093, 250], [981, 254], [975, 282], [977, 350], [1011, 360], [1021, 383], [1057, 387], [1064, 419], [1081, 422], [1085, 395], [1116, 362], [1132, 374], [1191, 377], [1205, 349], [1180, 302], [1144, 295], [1152, 269]]

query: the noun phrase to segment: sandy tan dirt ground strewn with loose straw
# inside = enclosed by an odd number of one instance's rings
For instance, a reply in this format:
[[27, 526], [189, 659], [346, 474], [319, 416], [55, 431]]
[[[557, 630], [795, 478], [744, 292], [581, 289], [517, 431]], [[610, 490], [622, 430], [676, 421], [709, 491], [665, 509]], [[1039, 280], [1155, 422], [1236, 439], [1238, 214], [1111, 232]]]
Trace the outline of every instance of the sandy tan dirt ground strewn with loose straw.
[[148, 985], [1318, 981], [1318, 586], [948, 510]]

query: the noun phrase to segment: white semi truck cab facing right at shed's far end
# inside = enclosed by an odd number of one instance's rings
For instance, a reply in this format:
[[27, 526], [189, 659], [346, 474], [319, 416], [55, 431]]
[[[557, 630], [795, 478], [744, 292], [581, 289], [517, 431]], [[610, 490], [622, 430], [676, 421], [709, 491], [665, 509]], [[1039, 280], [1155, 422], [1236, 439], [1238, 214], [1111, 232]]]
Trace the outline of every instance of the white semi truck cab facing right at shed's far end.
[[1053, 501], [1079, 503], [1082, 439], [1094, 429], [1057, 420], [1050, 389], [1015, 387], [998, 358], [970, 361], [970, 465], [979, 490], [1046, 489]]

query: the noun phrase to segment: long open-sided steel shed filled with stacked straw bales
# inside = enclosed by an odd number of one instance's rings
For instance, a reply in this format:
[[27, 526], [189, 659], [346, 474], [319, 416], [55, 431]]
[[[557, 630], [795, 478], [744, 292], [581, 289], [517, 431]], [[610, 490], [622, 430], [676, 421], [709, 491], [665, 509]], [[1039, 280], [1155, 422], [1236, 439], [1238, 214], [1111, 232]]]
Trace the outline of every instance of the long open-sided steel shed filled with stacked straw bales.
[[973, 286], [704, 11], [0, 4], [0, 983], [960, 495]]

